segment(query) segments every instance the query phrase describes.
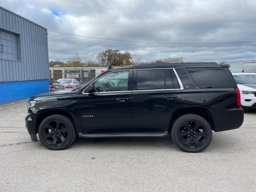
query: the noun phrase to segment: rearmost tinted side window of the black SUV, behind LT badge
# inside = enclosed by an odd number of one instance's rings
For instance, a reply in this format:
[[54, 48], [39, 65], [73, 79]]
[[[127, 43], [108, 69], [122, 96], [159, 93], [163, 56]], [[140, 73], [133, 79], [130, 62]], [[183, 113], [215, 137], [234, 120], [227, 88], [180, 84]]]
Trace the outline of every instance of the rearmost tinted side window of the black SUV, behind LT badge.
[[187, 68], [199, 88], [233, 87], [224, 68]]

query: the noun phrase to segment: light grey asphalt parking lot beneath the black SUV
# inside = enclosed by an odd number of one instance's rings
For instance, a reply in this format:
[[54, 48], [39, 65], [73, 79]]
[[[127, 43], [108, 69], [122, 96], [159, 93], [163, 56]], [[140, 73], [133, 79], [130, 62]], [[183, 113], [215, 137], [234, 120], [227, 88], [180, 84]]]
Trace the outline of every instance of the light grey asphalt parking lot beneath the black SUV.
[[26, 100], [0, 105], [1, 191], [255, 191], [256, 112], [196, 154], [170, 136], [79, 138], [51, 151], [30, 140], [26, 113]]

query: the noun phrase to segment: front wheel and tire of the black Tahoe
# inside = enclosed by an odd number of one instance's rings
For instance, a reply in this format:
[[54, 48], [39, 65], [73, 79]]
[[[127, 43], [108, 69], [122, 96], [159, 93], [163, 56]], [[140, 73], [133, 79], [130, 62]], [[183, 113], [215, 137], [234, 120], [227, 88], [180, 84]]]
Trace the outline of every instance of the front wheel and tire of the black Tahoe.
[[46, 117], [40, 124], [38, 136], [50, 150], [63, 150], [76, 140], [76, 130], [70, 118], [56, 114]]

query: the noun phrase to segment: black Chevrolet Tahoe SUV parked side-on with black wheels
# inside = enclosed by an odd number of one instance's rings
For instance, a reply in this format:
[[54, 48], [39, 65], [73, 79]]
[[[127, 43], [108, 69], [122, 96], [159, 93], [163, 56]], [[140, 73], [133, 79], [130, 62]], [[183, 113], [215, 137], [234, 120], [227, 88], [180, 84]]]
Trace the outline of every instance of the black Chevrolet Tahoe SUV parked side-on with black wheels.
[[200, 152], [215, 132], [239, 128], [240, 92], [228, 65], [150, 64], [109, 68], [83, 88], [28, 100], [26, 127], [44, 146], [62, 150], [76, 136], [165, 137]]

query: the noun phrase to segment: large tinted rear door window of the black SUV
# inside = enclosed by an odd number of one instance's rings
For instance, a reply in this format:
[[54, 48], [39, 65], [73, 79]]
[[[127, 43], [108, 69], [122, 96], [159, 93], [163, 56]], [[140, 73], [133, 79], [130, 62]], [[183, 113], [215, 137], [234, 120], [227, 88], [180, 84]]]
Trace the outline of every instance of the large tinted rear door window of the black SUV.
[[164, 89], [164, 70], [137, 70], [137, 90]]

